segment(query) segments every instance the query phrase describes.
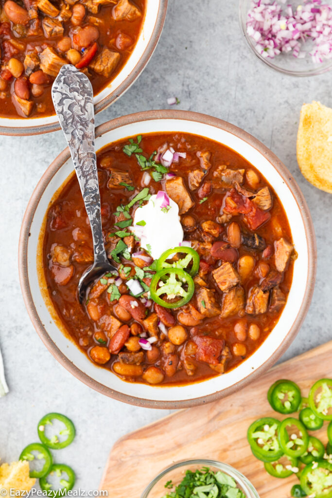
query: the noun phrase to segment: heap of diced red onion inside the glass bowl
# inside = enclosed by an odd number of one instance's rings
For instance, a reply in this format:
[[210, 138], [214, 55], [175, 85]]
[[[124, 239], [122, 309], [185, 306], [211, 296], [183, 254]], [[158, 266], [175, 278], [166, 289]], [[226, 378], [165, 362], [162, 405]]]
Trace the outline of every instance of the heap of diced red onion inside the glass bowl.
[[[293, 52], [300, 59], [310, 55], [315, 63], [332, 58], [332, 5], [322, 0], [304, 0], [294, 11], [290, 4], [283, 7], [276, 0], [252, 0], [246, 25], [264, 58], [282, 52]], [[301, 50], [308, 40], [311, 51]]]

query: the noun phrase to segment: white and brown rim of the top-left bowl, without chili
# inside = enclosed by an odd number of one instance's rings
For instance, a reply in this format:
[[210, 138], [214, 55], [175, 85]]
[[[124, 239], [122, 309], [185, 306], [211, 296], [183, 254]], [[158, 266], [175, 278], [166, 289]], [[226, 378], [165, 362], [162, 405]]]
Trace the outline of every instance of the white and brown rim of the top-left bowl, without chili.
[[[142, 28], [134, 50], [121, 71], [109, 85], [94, 97], [95, 113], [117, 100], [138, 78], [150, 60], [160, 38], [168, 0], [146, 0]], [[1, 135], [37, 135], [60, 129], [55, 114], [43, 118], [1, 118]]]

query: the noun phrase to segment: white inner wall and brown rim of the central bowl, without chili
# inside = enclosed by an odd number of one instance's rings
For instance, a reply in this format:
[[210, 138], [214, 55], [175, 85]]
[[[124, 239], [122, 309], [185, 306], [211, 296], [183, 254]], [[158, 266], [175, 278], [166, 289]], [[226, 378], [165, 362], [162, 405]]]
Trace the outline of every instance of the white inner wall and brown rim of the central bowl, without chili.
[[[265, 342], [241, 365], [202, 382], [175, 387], [124, 382], [93, 364], [58, 327], [46, 298], [38, 245], [45, 213], [57, 190], [73, 173], [68, 148], [53, 161], [28, 204], [19, 242], [19, 274], [25, 305], [38, 334], [52, 355], [71, 373], [115, 399], [154, 408], [184, 408], [213, 401], [240, 389], [271, 367], [298, 333], [314, 290], [316, 242], [306, 201], [281, 161], [245, 131], [216, 118], [184, 111], [151, 111], [124, 116], [96, 129], [96, 149], [127, 136], [151, 132], [189, 132], [219, 141], [241, 154], [265, 176], [279, 196], [290, 223], [298, 258], [281, 317]], [[41, 286], [39, 284], [41, 282]], [[44, 296], [44, 297], [43, 297]]]

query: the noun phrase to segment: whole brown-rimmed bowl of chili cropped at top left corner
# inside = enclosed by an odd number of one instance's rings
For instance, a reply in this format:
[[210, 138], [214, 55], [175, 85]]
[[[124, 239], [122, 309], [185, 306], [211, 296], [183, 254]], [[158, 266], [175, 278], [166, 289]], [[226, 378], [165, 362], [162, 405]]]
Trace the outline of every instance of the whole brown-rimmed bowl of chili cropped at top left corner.
[[60, 129], [51, 87], [73, 64], [90, 79], [98, 113], [150, 59], [167, 0], [0, 1], [0, 134]]

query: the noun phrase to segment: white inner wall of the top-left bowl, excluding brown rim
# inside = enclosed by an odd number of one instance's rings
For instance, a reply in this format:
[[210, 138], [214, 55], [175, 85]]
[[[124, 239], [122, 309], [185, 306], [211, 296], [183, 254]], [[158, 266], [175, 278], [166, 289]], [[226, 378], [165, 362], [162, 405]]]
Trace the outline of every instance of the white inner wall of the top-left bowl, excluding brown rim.
[[[135, 48], [132, 51], [126, 64], [122, 67], [121, 71], [118, 73], [116, 78], [114, 78], [111, 83], [104, 88], [98, 95], [94, 97], [94, 104], [99, 104], [105, 97], [110, 94], [115, 94], [118, 87], [128, 78], [130, 73], [135, 69], [142, 57], [142, 54], [147, 49], [148, 44], [151, 40], [153, 30], [155, 28], [156, 20], [158, 17], [158, 10], [160, 6], [160, 0], [146, 0], [146, 13], [143, 21], [142, 29], [138, 40], [136, 42]], [[137, 74], [138, 76], [138, 74]], [[136, 77], [137, 77], [136, 76]], [[133, 81], [132, 81], [133, 83]], [[131, 84], [132, 84], [131, 83]], [[129, 88], [129, 87], [128, 87]], [[118, 95], [119, 97], [120, 95]], [[55, 115], [48, 116], [46, 118], [0, 118], [1, 126], [7, 127], [30, 127], [30, 126], [44, 126], [45, 124], [57, 123], [57, 118]]]

